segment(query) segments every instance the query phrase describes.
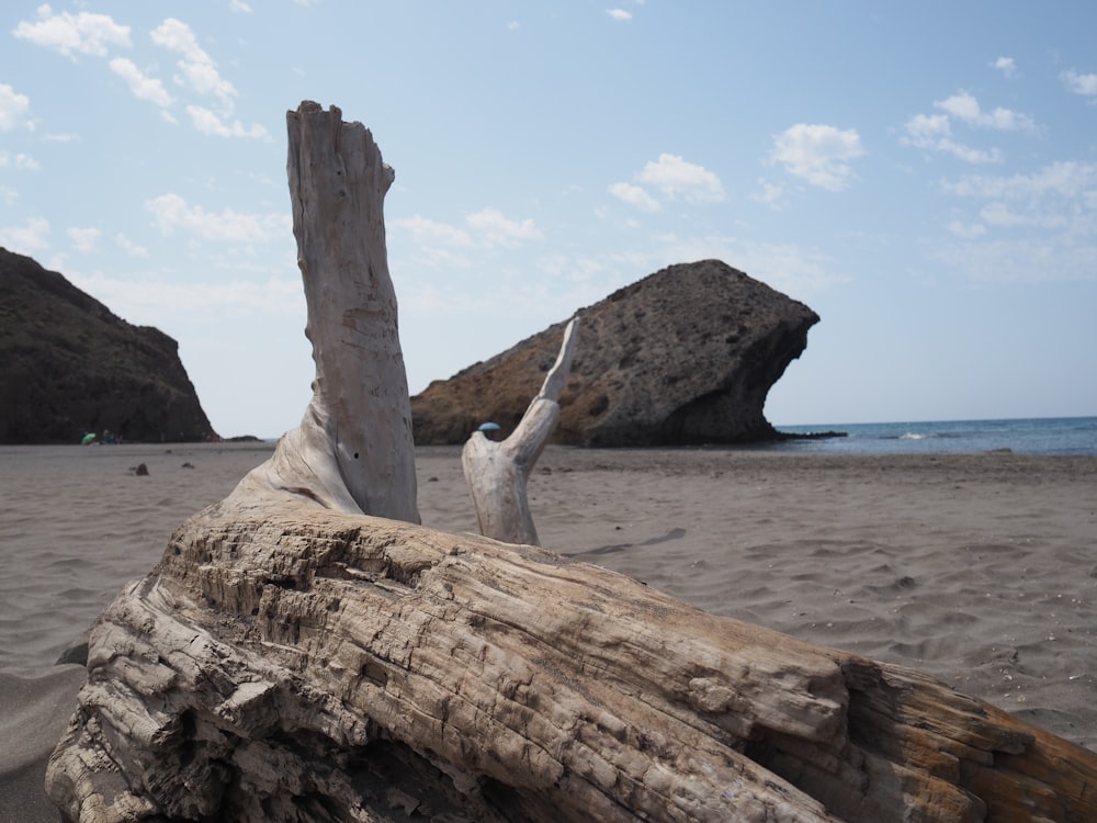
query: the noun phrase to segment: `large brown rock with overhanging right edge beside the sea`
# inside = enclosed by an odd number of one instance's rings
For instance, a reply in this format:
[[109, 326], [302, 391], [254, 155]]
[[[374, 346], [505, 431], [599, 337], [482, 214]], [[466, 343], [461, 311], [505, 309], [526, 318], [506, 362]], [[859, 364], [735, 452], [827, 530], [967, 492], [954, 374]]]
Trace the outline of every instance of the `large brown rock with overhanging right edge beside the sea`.
[[[819, 319], [719, 260], [663, 269], [577, 314], [554, 441], [595, 447], [774, 437], [766, 395]], [[509, 433], [552, 367], [564, 325], [412, 397], [416, 442], [460, 443], [484, 420]]]

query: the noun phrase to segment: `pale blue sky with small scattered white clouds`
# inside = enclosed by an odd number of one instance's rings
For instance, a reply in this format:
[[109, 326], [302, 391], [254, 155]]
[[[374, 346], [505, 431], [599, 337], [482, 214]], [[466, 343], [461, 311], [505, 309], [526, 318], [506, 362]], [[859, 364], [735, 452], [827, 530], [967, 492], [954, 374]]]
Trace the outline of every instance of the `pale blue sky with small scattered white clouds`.
[[1095, 31], [1088, 0], [10, 0], [0, 246], [174, 337], [220, 433], [278, 436], [315, 100], [396, 169], [412, 393], [714, 257], [822, 316], [779, 426], [1094, 415]]

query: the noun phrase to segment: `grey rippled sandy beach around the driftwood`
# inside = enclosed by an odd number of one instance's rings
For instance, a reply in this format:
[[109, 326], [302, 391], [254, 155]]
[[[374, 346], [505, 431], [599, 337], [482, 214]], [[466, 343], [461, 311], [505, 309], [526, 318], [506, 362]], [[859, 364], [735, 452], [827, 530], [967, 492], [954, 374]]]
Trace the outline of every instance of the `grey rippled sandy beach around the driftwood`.
[[[0, 447], [0, 820], [57, 820], [42, 778], [83, 676], [58, 656], [271, 448]], [[423, 523], [475, 531], [460, 449], [418, 474]], [[550, 447], [530, 498], [577, 562], [1097, 749], [1097, 458]]]

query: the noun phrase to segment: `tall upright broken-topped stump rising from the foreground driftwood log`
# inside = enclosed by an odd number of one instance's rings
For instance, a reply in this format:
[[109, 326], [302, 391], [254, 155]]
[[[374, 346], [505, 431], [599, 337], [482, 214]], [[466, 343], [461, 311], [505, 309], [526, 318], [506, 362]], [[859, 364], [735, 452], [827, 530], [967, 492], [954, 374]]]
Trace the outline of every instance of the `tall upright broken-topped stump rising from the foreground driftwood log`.
[[411, 402], [388, 274], [384, 202], [396, 174], [361, 123], [302, 103], [286, 114], [286, 171], [316, 379], [301, 426], [247, 495], [419, 522]]

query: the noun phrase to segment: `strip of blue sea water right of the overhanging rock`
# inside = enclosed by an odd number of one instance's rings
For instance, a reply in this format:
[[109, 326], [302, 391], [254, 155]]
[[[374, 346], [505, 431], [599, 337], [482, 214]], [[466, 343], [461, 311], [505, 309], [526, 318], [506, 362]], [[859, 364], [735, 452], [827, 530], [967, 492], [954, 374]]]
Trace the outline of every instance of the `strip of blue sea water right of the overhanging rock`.
[[822, 431], [846, 433], [846, 437], [790, 440], [769, 447], [780, 451], [927, 454], [1008, 449], [1017, 454], [1097, 455], [1097, 417], [859, 422], [778, 426], [777, 429], [795, 435]]

